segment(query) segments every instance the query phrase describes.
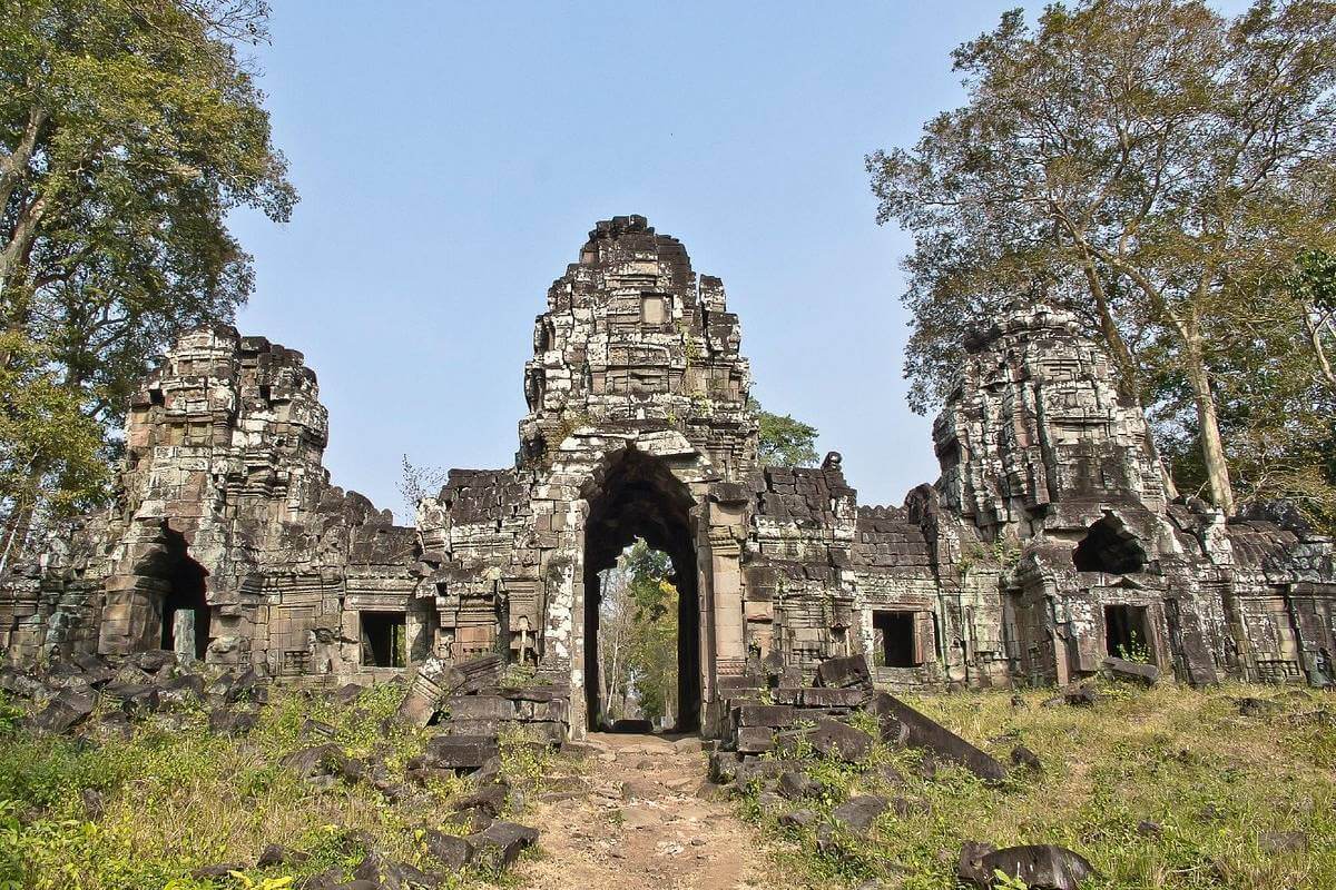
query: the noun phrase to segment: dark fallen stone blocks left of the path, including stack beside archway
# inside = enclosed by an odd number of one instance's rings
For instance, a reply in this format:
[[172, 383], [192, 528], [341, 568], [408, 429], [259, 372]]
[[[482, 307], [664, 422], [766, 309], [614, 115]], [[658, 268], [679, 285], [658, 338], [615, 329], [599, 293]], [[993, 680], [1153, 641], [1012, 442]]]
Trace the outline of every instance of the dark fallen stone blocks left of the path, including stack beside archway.
[[[259, 719], [259, 709], [270, 701], [269, 679], [253, 670], [239, 675], [231, 671], [206, 675], [198, 673], [202, 667], [180, 664], [170, 651], [138, 652], [116, 664], [80, 655], [40, 671], [3, 667], [0, 690], [32, 702], [35, 710], [27, 719], [27, 729], [36, 733], [79, 731], [128, 738], [136, 722], [182, 729], [198, 721], [202, 710], [207, 711], [214, 733], [250, 733]], [[501, 774], [500, 735], [508, 725], [526, 723], [536, 727], [534, 741], [516, 745], [546, 750], [558, 743], [564, 730], [558, 737], [556, 726], [544, 725], [557, 725], [553, 717], [564, 721], [565, 701], [558, 701], [562, 690], [502, 685], [502, 663], [494, 655], [457, 667], [436, 666], [429, 679], [436, 690], [429, 693], [430, 702], [424, 699], [428, 693], [424, 693], [420, 673], [410, 682], [398, 714], [379, 727], [382, 735], [389, 735], [394, 725], [434, 725], [436, 734], [426, 741], [422, 753], [406, 763], [402, 775], [395, 775], [382, 757], [350, 755], [334, 741], [337, 727], [313, 718], [301, 727], [309, 743], [282, 757], [279, 763], [315, 789], [362, 783], [391, 802], [415, 794], [417, 787], [433, 781], [468, 775], [470, 791], [449, 805], [448, 821], [454, 822], [461, 834], [432, 827], [420, 833], [428, 858], [438, 866], [424, 873], [410, 863], [387, 858], [369, 835], [349, 833], [349, 850], [365, 853], [354, 869], [354, 881], [343, 883], [342, 873], [330, 870], [307, 878], [301, 885], [303, 890], [433, 887], [465, 867], [504, 869], [536, 843], [537, 830], [501, 818], [504, 811], [521, 809], [524, 797]], [[362, 691], [363, 687], [349, 683], [323, 694], [338, 705], [351, 706]], [[305, 690], [305, 694], [315, 693]], [[270, 846], [254, 866], [299, 865], [305, 859], [301, 851]], [[247, 867], [247, 863], [223, 862], [199, 869], [194, 877], [222, 878]]]

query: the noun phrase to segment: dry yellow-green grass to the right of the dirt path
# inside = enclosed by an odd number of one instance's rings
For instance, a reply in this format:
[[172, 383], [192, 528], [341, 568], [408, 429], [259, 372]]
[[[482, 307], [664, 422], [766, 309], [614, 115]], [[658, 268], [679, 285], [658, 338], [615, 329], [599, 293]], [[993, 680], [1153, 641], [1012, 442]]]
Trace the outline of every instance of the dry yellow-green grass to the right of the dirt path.
[[[1043, 771], [1015, 771], [993, 787], [951, 767], [923, 778], [916, 753], [883, 745], [858, 766], [808, 755], [824, 793], [807, 806], [822, 819], [860, 793], [902, 798], [907, 810], [883, 815], [867, 838], [836, 833], [824, 853], [816, 826], [782, 829], [782, 810], [763, 810], [756, 790], [741, 811], [779, 841], [783, 865], [818, 887], [874, 877], [903, 890], [955, 887], [963, 841], [1070, 847], [1100, 871], [1090, 890], [1336, 886], [1328, 695], [1240, 685], [1102, 691], [1085, 709], [1041, 707], [1050, 691], [1023, 693], [1023, 707], [1010, 691], [904, 697], [1003, 762], [1027, 746]], [[1275, 713], [1240, 715], [1234, 699], [1244, 695], [1272, 699]], [[1138, 830], [1142, 822], [1158, 830]], [[1301, 831], [1307, 849], [1269, 850], [1272, 831]]]

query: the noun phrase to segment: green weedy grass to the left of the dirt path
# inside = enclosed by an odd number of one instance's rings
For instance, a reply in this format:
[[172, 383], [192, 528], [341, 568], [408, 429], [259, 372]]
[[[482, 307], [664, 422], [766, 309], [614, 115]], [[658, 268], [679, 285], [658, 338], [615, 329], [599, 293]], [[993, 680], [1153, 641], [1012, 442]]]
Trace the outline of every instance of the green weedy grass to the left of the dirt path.
[[[402, 695], [395, 685], [371, 687], [343, 707], [275, 689], [246, 737], [211, 734], [199, 710], [179, 729], [150, 718], [128, 741], [96, 742], [28, 734], [19, 729], [19, 706], [0, 693], [0, 890], [269, 890], [330, 867], [349, 877], [367, 846], [433, 871], [421, 834], [461, 833], [448, 817], [464, 781], [390, 802], [365, 783], [317, 789], [279, 766], [285, 754], [326, 741], [303, 733], [311, 719], [331, 727], [331, 741], [350, 757], [379, 757], [402, 777], [428, 738], [399, 726], [382, 734]], [[552, 758], [522, 739], [502, 739], [502, 774], [516, 787], [532, 785]], [[100, 814], [90, 810], [88, 790], [100, 797]], [[190, 878], [206, 865], [254, 863], [269, 843], [310, 859], [246, 867], [215, 882]], [[442, 886], [485, 878], [465, 874]]]

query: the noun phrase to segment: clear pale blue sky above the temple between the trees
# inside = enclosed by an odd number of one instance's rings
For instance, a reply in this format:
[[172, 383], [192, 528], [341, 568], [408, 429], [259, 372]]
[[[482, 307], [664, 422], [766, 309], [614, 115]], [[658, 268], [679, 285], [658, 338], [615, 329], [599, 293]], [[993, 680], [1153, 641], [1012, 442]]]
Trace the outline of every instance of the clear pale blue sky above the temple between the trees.
[[1010, 5], [279, 0], [258, 61], [302, 201], [235, 216], [238, 326], [305, 352], [334, 482], [402, 519], [402, 454], [512, 464], [548, 286], [643, 213], [723, 278], [762, 403], [899, 504], [938, 474], [863, 156], [959, 104], [949, 52]]

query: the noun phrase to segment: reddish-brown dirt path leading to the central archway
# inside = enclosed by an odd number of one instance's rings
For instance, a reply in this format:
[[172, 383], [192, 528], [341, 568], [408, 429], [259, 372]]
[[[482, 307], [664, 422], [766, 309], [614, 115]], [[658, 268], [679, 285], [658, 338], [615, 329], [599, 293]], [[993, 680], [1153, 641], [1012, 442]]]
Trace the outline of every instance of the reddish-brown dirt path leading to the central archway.
[[[766, 854], [727, 801], [697, 795], [700, 741], [591, 734], [585, 774], [554, 779], [526, 821], [545, 853], [518, 869], [534, 890], [766, 886]], [[708, 795], [707, 795], [708, 797]]]

